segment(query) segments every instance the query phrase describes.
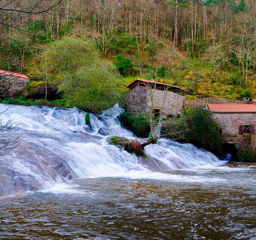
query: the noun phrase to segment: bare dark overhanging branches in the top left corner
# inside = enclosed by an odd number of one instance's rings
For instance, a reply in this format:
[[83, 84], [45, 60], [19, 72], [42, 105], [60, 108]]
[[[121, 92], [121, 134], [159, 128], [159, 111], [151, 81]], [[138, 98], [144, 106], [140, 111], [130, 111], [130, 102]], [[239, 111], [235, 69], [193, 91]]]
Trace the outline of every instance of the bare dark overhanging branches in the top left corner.
[[[42, 18], [43, 14], [55, 15], [53, 9], [62, 0], [0, 0], [0, 52], [2, 64], [13, 64], [21, 66], [24, 61], [24, 52], [19, 58], [8, 54], [8, 38], [10, 32], [15, 32], [21, 40], [25, 37], [22, 33], [33, 33], [29, 26], [37, 16]], [[18, 41], [18, 40], [16, 40]], [[16, 67], [19, 68], [19, 67]]]

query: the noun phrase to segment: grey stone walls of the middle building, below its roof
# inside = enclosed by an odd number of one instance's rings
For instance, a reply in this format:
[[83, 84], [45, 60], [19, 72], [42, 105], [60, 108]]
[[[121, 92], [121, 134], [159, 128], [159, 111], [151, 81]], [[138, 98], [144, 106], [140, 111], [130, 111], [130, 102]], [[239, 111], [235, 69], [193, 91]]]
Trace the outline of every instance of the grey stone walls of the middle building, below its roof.
[[170, 91], [150, 90], [143, 86], [136, 86], [127, 93], [128, 112], [136, 114], [148, 111], [152, 105], [151, 94], [153, 92], [153, 109], [163, 109], [164, 114], [167, 116], [182, 114], [186, 97]]

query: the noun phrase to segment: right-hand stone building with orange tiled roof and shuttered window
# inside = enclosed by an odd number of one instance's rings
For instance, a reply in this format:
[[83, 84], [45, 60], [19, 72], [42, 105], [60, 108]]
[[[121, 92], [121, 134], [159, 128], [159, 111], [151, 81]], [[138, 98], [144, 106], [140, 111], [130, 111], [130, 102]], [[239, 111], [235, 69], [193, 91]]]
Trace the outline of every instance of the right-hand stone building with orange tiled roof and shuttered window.
[[255, 104], [208, 104], [208, 109], [219, 125], [222, 143], [228, 153], [254, 151]]

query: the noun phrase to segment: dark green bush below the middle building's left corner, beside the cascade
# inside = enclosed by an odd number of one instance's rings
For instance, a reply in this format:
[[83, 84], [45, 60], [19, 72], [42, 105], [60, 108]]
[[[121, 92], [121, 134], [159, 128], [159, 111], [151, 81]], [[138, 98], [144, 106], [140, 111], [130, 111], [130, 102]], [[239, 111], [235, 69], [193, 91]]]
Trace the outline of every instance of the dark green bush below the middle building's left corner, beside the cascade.
[[150, 124], [144, 118], [143, 114], [122, 113], [120, 122], [123, 126], [131, 130], [138, 137], [148, 137], [150, 132]]

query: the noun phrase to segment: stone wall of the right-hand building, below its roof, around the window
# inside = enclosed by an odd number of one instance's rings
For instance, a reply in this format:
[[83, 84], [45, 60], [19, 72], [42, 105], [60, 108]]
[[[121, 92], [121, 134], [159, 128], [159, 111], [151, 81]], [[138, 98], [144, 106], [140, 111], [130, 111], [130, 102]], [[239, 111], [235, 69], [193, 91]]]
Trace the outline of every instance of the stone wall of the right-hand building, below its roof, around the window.
[[233, 143], [238, 152], [254, 149], [254, 134], [239, 134], [239, 126], [252, 125], [256, 131], [255, 113], [213, 113], [212, 118], [219, 125], [223, 143]]

